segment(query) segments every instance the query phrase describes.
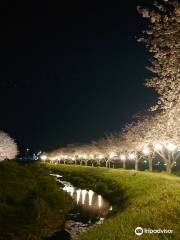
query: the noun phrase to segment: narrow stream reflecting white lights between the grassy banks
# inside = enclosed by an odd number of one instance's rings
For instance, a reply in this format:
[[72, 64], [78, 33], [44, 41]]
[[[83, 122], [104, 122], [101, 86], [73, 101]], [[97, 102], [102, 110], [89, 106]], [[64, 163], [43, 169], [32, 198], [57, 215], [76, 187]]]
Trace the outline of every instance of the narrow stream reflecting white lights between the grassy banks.
[[65, 228], [49, 240], [74, 239], [93, 224], [101, 224], [108, 212], [112, 210], [112, 206], [101, 195], [92, 190], [76, 188], [71, 183], [64, 181], [59, 174], [51, 175], [62, 184], [62, 189], [72, 197], [75, 207], [66, 218]]

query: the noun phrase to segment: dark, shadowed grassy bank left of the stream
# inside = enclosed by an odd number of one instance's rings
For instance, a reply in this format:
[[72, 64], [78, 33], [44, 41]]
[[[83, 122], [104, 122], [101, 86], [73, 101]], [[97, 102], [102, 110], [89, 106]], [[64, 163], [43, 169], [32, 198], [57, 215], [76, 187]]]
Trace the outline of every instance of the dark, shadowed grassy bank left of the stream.
[[61, 227], [69, 197], [38, 164], [0, 163], [0, 240], [36, 240]]

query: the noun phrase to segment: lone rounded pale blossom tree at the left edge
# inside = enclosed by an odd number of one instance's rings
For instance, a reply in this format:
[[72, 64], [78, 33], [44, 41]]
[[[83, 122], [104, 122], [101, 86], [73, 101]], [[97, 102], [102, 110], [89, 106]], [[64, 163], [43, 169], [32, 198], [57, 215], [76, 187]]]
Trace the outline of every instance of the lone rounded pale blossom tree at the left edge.
[[15, 141], [7, 133], [0, 131], [0, 161], [15, 159], [17, 154]]

